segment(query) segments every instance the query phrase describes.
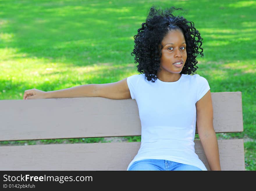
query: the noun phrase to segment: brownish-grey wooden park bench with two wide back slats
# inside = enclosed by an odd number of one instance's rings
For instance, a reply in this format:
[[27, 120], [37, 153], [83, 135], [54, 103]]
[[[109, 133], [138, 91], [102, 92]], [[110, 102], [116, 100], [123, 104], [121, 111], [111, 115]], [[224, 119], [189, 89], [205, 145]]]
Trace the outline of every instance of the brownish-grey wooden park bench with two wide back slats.
[[[211, 93], [216, 133], [242, 132], [241, 92]], [[0, 100], [0, 141], [141, 135], [135, 100]], [[245, 170], [243, 139], [218, 140], [221, 169]], [[0, 147], [1, 170], [126, 170], [140, 142]], [[195, 150], [207, 169], [200, 140]]]

